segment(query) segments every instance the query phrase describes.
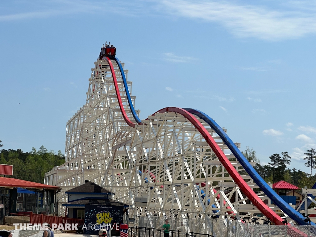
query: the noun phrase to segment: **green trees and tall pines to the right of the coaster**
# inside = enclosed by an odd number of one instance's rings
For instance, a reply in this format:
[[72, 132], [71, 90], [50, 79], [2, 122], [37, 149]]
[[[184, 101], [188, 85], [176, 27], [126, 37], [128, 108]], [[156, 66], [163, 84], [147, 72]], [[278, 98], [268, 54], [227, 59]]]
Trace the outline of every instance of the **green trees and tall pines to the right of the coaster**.
[[287, 165], [291, 162], [291, 157], [286, 151], [282, 152], [281, 155], [277, 153], [271, 155], [268, 165], [260, 164], [260, 160], [257, 158], [256, 151], [253, 148], [249, 149], [249, 147], [246, 147], [246, 150], [242, 153], [248, 161], [256, 162], [254, 168], [266, 182], [276, 183], [284, 180], [300, 188], [304, 188], [305, 186], [312, 188], [316, 182], [316, 174], [313, 175], [312, 173], [313, 169], [316, 168], [316, 151], [313, 148], [307, 150], [304, 153], [306, 157], [303, 158], [306, 161], [305, 166], [311, 169], [310, 173], [306, 173], [300, 169], [297, 170], [296, 168], [287, 168]]

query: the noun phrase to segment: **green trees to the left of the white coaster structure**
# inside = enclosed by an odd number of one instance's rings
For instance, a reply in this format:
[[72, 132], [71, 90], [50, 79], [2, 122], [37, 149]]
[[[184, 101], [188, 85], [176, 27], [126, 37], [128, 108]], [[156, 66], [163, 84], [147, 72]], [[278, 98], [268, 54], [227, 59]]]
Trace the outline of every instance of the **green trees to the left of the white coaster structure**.
[[[2, 147], [0, 141], [0, 147]], [[30, 152], [21, 149], [0, 150], [0, 164], [13, 165], [13, 175], [9, 178], [22, 179], [36, 183], [44, 183], [44, 175], [52, 170], [54, 166], [65, 163], [65, 156], [59, 150], [48, 151], [44, 146], [36, 150], [34, 147]]]

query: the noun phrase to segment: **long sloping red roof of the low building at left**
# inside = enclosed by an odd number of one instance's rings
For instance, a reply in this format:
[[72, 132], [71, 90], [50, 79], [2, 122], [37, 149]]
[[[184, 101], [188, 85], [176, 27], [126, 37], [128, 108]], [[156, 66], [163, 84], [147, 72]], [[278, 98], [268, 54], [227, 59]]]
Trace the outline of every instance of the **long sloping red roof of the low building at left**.
[[38, 189], [51, 189], [60, 191], [61, 188], [57, 186], [51, 186], [46, 184], [39, 184], [35, 182], [25, 181], [21, 179], [4, 178], [0, 177], [0, 187], [21, 187], [21, 188], [38, 188]]

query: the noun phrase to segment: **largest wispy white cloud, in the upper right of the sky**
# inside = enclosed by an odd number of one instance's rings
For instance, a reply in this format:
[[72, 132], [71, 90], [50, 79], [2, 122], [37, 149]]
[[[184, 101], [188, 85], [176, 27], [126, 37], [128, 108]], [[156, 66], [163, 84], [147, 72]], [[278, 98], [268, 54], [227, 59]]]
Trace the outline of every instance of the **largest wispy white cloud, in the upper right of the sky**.
[[161, 4], [174, 16], [218, 22], [237, 37], [282, 40], [316, 33], [314, 2], [289, 1], [277, 10], [228, 1], [164, 0]]

